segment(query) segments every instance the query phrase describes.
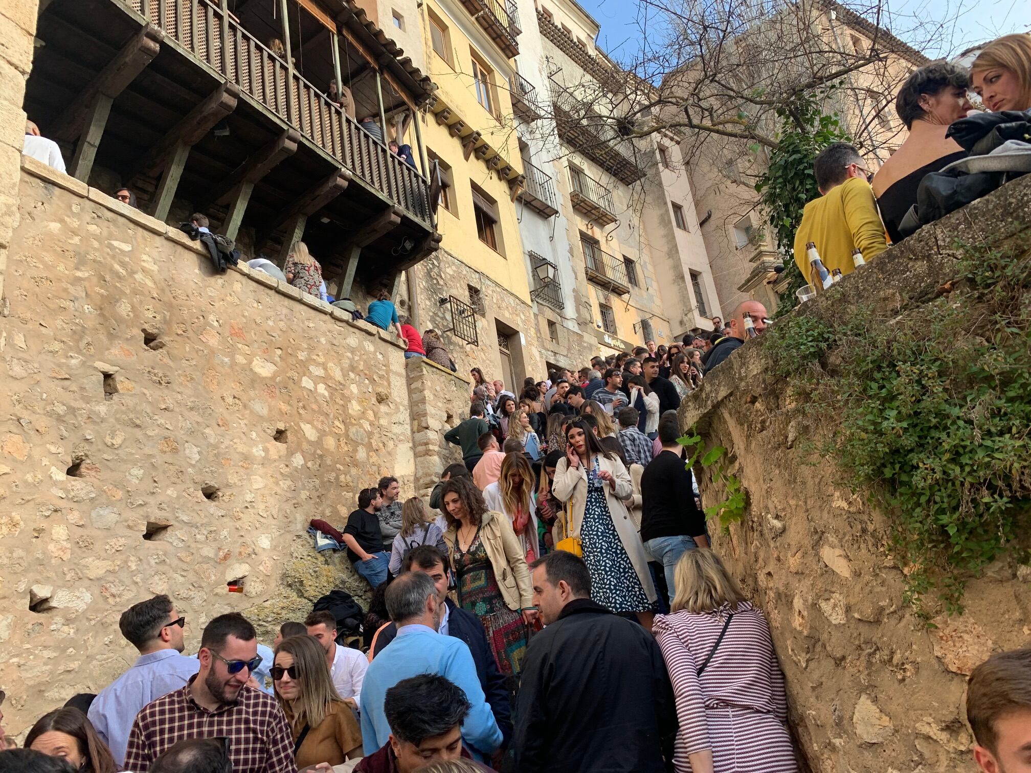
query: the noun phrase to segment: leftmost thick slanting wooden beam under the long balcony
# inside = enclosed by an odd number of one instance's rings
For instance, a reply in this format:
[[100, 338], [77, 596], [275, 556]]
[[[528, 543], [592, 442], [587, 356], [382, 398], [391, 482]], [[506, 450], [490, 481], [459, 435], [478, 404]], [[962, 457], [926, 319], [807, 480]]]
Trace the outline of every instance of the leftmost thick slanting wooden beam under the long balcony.
[[[106, 121], [106, 111], [110, 110], [110, 104], [108, 103], [106, 110], [103, 108], [98, 110], [98, 99], [107, 97], [113, 100], [124, 92], [158, 56], [161, 41], [164, 39], [165, 33], [156, 27], [147, 25], [141, 29], [54, 122], [54, 129], [51, 131], [54, 139], [71, 142], [85, 130], [92, 128], [92, 122], [95, 122], [101, 113]], [[103, 125], [100, 130], [103, 132]]]

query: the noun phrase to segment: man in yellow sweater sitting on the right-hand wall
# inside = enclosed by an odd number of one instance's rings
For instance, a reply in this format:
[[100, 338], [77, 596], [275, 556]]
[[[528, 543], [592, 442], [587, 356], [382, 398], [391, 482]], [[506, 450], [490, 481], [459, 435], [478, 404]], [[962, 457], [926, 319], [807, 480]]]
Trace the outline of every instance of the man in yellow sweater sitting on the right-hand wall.
[[813, 280], [810, 276], [807, 242], [817, 245], [828, 271], [837, 268], [842, 274], [855, 269], [853, 249], [859, 249], [869, 262], [888, 248], [888, 242], [873, 189], [867, 181], [873, 175], [855, 146], [847, 142], [828, 145], [817, 156], [812, 168], [821, 196], [805, 205], [795, 232], [795, 263], [819, 292], [822, 284], [819, 277]]

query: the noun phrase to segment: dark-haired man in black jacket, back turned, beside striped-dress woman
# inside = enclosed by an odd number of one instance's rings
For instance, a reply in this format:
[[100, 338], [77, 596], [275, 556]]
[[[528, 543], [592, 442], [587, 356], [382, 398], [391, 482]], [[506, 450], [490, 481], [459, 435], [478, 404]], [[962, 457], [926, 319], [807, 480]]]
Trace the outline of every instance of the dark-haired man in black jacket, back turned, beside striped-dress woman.
[[523, 661], [512, 736], [519, 773], [663, 773], [676, 707], [655, 639], [591, 601], [587, 565], [564, 550], [535, 561], [546, 628]]

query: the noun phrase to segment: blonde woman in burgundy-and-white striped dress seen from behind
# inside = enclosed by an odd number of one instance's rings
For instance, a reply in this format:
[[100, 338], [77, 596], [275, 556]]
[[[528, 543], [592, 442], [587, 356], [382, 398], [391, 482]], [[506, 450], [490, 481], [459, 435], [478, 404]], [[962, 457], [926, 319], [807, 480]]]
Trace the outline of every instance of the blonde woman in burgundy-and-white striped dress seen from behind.
[[784, 674], [763, 613], [720, 558], [688, 550], [653, 631], [676, 696], [677, 773], [795, 773]]

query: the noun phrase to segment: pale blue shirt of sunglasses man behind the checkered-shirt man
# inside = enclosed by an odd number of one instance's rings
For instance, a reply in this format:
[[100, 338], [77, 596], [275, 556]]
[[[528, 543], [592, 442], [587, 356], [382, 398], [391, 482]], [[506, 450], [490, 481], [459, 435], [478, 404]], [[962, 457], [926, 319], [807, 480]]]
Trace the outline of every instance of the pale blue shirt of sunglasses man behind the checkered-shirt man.
[[174, 649], [141, 654], [122, 676], [100, 691], [88, 716], [119, 768], [125, 765], [129, 731], [146, 704], [186, 685], [200, 662]]

